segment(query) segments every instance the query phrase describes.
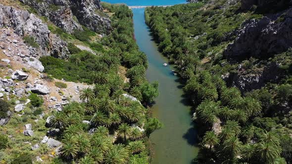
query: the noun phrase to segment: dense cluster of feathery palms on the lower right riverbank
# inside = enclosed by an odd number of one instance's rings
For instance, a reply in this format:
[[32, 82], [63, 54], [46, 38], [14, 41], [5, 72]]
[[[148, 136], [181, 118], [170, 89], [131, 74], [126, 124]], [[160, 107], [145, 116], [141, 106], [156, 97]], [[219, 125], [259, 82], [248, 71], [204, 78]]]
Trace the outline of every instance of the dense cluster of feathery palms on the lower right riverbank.
[[[250, 123], [261, 113], [258, 100], [242, 97], [238, 88], [226, 87], [221, 78], [206, 71], [192, 76], [184, 89], [198, 104], [193, 120], [206, 130], [199, 162], [286, 164], [280, 156], [279, 136]], [[222, 127], [215, 127], [216, 123]]]

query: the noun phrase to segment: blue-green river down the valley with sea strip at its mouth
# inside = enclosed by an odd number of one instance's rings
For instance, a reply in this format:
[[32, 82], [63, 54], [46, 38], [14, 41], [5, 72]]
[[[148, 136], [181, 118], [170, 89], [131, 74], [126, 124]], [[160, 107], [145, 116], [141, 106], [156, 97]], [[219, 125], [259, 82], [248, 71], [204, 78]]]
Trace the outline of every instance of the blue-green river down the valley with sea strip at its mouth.
[[[107, 2], [121, 3], [121, 0], [107, 0]], [[128, 0], [123, 3], [130, 6], [144, 6], [173, 5], [185, 3], [185, 1]], [[179, 83], [179, 78], [171, 72], [172, 66], [163, 66], [167, 63], [167, 58], [158, 51], [150, 35], [149, 28], [145, 24], [144, 8], [132, 10], [136, 41], [141, 51], [148, 57], [149, 67], [146, 78], [150, 82], [159, 82], [159, 96], [150, 110], [164, 126], [150, 135], [155, 153], [152, 164], [192, 164], [198, 148], [195, 146], [196, 131], [191, 120], [191, 106], [185, 103], [182, 85]]]

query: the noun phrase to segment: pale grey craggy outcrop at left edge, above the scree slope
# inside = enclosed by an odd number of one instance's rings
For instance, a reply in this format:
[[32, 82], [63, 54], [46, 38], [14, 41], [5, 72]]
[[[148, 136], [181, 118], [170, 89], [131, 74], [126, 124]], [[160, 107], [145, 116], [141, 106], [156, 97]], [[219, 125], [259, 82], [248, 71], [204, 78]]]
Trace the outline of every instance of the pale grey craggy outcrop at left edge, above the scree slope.
[[50, 33], [47, 24], [28, 11], [0, 4], [0, 28], [4, 26], [13, 28], [19, 36], [30, 36], [35, 39], [40, 47], [30, 47], [31, 56], [68, 57], [67, 43]]

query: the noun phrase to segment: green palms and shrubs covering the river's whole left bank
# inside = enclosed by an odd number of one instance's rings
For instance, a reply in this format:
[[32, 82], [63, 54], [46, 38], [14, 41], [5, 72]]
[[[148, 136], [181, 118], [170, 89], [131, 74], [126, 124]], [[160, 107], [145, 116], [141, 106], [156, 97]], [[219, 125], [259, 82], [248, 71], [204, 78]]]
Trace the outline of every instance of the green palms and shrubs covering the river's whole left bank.
[[[133, 13], [126, 5], [103, 7], [114, 13], [111, 17], [113, 32], [101, 42], [93, 41], [91, 38], [96, 33], [86, 28], [71, 36], [50, 27], [67, 40], [71, 37], [82, 41], [98, 55], [68, 43], [71, 53], [68, 60], [51, 56], [40, 59], [45, 72], [56, 79], [94, 84], [81, 91], [82, 103], [72, 102], [62, 111], [50, 114], [51, 128], [60, 129], [54, 137], [63, 143], [55, 163], [149, 163], [148, 137], [162, 126], [157, 119], [151, 118], [146, 108], [158, 96], [158, 82], [146, 81], [147, 58], [134, 40]], [[121, 67], [126, 71], [122, 72]], [[125, 82], [126, 78], [130, 82]], [[64, 87], [61, 82], [55, 85]], [[124, 96], [125, 93], [141, 103]], [[41, 112], [42, 108], [37, 108], [32, 114]], [[83, 121], [90, 121], [90, 124]]]

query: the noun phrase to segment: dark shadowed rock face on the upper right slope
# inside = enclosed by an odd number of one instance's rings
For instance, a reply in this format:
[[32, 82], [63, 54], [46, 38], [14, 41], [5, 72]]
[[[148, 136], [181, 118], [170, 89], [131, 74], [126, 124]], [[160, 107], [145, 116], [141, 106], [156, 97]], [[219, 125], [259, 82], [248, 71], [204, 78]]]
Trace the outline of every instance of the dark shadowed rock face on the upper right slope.
[[275, 23], [263, 17], [250, 20], [243, 26], [236, 40], [225, 50], [225, 58], [268, 58], [292, 47], [292, 9], [287, 11], [283, 22]]

